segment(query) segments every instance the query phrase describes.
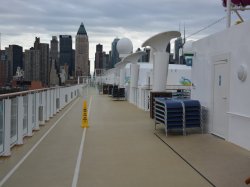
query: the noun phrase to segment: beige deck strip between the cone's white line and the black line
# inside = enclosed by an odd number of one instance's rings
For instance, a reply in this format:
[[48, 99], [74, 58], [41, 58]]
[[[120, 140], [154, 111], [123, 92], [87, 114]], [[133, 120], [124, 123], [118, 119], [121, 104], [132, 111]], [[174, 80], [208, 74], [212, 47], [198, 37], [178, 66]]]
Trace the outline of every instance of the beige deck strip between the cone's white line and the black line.
[[210, 186], [154, 135], [153, 128], [147, 112], [94, 96], [79, 186]]

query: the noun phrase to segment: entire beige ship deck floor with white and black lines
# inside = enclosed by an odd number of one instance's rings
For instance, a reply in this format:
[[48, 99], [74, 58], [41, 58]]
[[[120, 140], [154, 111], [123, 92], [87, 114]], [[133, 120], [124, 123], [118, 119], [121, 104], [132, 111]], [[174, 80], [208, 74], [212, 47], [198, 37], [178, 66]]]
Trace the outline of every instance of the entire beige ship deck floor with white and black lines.
[[249, 151], [210, 134], [166, 137], [148, 112], [92, 87], [85, 95], [89, 128], [78, 97], [0, 159], [0, 186], [245, 186]]

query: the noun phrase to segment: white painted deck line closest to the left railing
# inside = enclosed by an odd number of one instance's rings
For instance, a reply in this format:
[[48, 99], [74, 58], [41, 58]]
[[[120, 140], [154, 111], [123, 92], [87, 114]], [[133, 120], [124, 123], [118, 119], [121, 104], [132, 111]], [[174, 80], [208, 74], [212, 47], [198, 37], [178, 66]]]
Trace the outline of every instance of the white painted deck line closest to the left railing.
[[71, 105], [71, 107], [49, 128], [49, 130], [40, 138], [40, 140], [29, 150], [28, 153], [17, 163], [17, 165], [10, 170], [10, 172], [0, 182], [0, 187], [13, 175], [13, 173], [20, 167], [20, 165], [28, 158], [28, 156], [37, 148], [37, 146], [46, 138], [46, 136], [56, 127], [58, 122], [73, 108], [79, 98]]

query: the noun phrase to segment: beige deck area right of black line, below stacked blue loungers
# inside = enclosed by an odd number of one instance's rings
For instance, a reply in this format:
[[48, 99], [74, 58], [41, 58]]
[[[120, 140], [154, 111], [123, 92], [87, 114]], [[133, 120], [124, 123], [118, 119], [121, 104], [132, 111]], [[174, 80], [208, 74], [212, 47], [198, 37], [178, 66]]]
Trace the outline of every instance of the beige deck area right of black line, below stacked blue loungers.
[[156, 134], [215, 186], [247, 186], [250, 176], [250, 151], [211, 134], [165, 136], [163, 129]]

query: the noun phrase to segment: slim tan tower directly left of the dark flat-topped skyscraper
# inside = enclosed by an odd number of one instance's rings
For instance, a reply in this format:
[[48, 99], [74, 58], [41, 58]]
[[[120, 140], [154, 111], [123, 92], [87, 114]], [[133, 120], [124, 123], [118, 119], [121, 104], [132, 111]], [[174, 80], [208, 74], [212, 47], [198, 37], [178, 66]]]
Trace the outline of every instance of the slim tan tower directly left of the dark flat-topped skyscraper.
[[52, 65], [52, 61], [55, 64], [55, 69], [57, 73], [59, 73], [60, 65], [59, 65], [59, 51], [58, 51], [58, 40], [56, 36], [52, 36], [52, 40], [50, 40], [50, 61]]

